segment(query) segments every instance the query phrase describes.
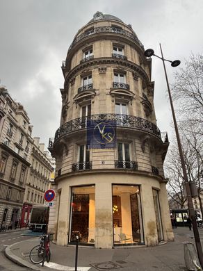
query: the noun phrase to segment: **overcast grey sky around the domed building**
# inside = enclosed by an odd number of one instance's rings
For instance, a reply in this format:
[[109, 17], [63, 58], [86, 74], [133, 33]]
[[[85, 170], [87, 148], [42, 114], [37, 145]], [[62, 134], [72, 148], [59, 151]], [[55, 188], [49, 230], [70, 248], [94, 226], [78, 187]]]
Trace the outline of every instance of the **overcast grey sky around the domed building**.
[[[202, 54], [202, 0], [0, 0], [0, 79], [29, 115], [33, 136], [48, 145], [60, 123], [61, 63], [76, 32], [101, 11], [131, 24], [145, 49], [181, 60]], [[167, 63], [166, 63], [167, 64]], [[167, 64], [170, 83], [174, 69]], [[156, 119], [172, 140], [163, 63], [152, 61]]]

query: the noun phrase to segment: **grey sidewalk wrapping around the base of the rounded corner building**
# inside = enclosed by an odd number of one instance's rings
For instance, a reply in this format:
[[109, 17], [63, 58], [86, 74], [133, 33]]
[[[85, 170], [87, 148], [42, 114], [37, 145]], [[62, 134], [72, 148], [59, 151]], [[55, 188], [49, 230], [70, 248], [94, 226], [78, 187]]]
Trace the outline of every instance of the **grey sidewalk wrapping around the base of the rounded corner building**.
[[[122, 247], [115, 249], [79, 247], [77, 270], [97, 271], [119, 268], [120, 271], [186, 270], [183, 243], [194, 242], [193, 231], [189, 231], [188, 228], [178, 227], [174, 229], [174, 238], [174, 242], [168, 242], [156, 247]], [[200, 238], [203, 241], [203, 229], [200, 230]], [[63, 247], [54, 243], [51, 243], [52, 264], [49, 263], [50, 268], [33, 265], [29, 260], [29, 252], [38, 243], [39, 238], [32, 238], [10, 245], [6, 247], [6, 256], [32, 270], [74, 270], [75, 247]]]

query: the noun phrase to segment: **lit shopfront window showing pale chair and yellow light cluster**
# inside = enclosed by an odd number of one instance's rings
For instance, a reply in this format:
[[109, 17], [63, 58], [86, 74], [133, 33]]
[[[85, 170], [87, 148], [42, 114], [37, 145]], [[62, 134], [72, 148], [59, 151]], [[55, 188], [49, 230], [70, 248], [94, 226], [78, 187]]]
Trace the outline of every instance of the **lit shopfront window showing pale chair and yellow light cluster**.
[[144, 243], [139, 186], [113, 185], [114, 245]]

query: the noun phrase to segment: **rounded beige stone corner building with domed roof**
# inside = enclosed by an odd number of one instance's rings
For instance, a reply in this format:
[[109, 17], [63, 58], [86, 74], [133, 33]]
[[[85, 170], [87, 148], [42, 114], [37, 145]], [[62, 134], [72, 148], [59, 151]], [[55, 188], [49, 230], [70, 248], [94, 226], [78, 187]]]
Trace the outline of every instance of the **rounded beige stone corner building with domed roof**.
[[[49, 140], [49, 232], [59, 245], [76, 236], [96, 248], [173, 240], [163, 174], [169, 142], [156, 126], [151, 66], [131, 25], [115, 16], [97, 12], [76, 33], [62, 66], [60, 128]], [[105, 137], [108, 121], [115, 147], [91, 147], [88, 123], [104, 125]]]

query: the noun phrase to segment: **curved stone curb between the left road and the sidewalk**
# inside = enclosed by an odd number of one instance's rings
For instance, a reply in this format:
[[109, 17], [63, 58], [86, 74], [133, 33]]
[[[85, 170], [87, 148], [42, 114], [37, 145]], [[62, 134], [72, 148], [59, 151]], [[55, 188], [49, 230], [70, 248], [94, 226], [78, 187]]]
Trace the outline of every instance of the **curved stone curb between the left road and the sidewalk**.
[[24, 266], [26, 268], [30, 268], [31, 270], [40, 271], [40, 268], [38, 268], [37, 266], [35, 266], [32, 263], [29, 263], [27, 261], [24, 261], [22, 258], [19, 258], [15, 254], [13, 254], [13, 252], [11, 252], [12, 247], [14, 245], [19, 244], [19, 243], [22, 243], [22, 242], [18, 242], [18, 243], [12, 244], [12, 245], [8, 245], [8, 247], [6, 247], [6, 249], [4, 250], [4, 254], [5, 254], [6, 258], [9, 258], [14, 263], [17, 263], [17, 265]]

